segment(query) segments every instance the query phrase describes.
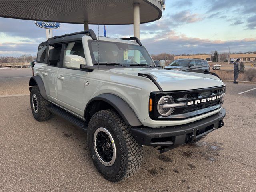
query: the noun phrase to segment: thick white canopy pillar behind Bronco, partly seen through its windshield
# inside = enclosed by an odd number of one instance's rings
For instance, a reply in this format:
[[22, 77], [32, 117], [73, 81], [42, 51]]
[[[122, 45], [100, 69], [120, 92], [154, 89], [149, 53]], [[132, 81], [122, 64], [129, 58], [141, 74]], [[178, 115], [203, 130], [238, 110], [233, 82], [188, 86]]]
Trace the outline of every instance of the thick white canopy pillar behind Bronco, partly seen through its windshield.
[[[133, 4], [133, 34], [134, 37], [140, 39], [140, 4]], [[134, 60], [137, 63], [140, 63], [140, 52], [138, 50], [134, 50]]]

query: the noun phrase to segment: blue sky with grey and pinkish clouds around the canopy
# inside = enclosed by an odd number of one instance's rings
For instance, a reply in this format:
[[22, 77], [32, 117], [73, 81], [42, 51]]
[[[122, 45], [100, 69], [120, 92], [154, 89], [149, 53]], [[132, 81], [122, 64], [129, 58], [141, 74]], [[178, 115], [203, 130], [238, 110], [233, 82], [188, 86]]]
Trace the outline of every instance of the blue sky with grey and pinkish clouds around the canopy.
[[[132, 13], [131, 13], [132, 14]], [[90, 25], [98, 34], [98, 26]], [[103, 26], [99, 26], [103, 36]], [[132, 25], [106, 26], [107, 36], [133, 36]], [[62, 35], [84, 30], [65, 24], [53, 30]], [[0, 56], [36, 55], [46, 40], [45, 29], [34, 21], [0, 18]], [[162, 18], [140, 25], [140, 40], [150, 54], [196, 54], [256, 51], [255, 0], [166, 0]]]

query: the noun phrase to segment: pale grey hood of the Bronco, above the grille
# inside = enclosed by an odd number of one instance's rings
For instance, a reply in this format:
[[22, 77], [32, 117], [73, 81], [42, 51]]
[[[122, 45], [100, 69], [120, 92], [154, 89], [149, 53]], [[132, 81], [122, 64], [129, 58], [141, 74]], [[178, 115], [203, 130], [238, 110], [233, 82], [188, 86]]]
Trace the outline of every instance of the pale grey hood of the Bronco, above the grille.
[[180, 72], [161, 68], [112, 68], [109, 71], [134, 76], [138, 76], [138, 73], [150, 74], [163, 91], [192, 90], [224, 85], [218, 77], [203, 73]]

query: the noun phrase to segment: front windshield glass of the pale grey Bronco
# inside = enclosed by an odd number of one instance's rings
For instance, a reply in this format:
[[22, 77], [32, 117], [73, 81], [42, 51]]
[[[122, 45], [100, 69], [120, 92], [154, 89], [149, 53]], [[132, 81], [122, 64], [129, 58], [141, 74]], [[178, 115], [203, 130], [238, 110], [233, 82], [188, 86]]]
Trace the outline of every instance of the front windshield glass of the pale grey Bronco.
[[[154, 67], [147, 50], [143, 46], [109, 41], [89, 40], [93, 64], [119, 64], [119, 66]], [[98, 60], [99, 59], [99, 60]]]

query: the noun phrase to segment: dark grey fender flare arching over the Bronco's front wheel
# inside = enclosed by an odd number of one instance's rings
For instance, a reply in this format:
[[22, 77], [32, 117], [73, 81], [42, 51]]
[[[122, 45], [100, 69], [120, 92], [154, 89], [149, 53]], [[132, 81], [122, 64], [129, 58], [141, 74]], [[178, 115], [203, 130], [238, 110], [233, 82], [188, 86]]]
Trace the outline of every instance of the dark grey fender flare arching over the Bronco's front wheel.
[[86, 104], [84, 113], [86, 112], [86, 109], [89, 106], [89, 104], [95, 100], [101, 100], [110, 104], [120, 114], [120, 116], [122, 116], [126, 124], [129, 124], [130, 126], [142, 125], [137, 115], [130, 107], [130, 105], [128, 105], [122, 98], [110, 93], [100, 94], [99, 96], [92, 98]]

